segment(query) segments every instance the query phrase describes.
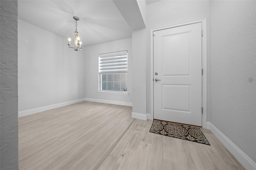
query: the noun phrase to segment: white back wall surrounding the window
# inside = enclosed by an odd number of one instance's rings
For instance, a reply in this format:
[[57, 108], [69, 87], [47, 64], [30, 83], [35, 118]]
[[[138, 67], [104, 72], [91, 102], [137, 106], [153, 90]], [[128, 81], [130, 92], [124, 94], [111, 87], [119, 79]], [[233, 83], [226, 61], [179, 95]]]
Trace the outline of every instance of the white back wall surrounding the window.
[[[98, 57], [101, 53], [128, 50], [128, 85], [129, 95], [102, 94], [99, 91]], [[132, 38], [117, 40], [108, 43], [101, 43], [85, 47], [85, 91], [86, 99], [92, 101], [119, 101], [125, 105], [132, 104]]]

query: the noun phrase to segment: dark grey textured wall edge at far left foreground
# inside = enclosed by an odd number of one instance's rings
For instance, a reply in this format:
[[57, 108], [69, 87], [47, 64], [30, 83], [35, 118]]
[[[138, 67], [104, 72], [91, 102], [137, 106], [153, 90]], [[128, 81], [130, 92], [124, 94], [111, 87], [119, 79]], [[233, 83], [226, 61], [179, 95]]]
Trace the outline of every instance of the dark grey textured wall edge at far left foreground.
[[18, 169], [16, 0], [0, 2], [0, 169]]

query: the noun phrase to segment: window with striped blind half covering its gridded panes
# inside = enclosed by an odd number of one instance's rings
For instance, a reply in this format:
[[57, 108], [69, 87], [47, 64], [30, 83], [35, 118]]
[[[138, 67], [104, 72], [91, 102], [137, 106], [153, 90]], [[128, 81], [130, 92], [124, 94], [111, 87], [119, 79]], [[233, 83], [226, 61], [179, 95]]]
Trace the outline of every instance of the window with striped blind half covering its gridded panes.
[[100, 91], [127, 93], [127, 51], [99, 55]]

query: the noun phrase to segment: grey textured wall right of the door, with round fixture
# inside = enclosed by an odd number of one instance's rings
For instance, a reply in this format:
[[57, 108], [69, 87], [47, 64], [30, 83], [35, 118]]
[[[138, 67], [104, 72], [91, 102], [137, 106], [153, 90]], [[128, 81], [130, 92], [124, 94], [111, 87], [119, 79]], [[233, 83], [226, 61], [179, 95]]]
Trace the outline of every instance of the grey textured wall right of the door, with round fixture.
[[210, 1], [210, 122], [254, 162], [255, 8], [256, 1]]

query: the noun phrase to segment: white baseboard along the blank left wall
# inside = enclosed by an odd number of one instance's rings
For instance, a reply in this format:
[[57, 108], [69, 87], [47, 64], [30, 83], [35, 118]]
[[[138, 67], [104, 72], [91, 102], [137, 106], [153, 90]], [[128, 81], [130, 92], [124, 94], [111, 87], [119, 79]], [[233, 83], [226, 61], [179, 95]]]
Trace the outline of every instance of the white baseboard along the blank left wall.
[[63, 102], [63, 103], [57, 103], [57, 104], [43, 106], [43, 107], [38, 107], [38, 108], [34, 108], [34, 109], [28, 109], [28, 110], [25, 110], [25, 111], [19, 111], [18, 112], [18, 117], [32, 115], [34, 113], [48, 111], [48, 110], [51, 110], [51, 109], [56, 109], [58, 107], [63, 107], [63, 106], [67, 106], [67, 105], [72, 105], [74, 103], [79, 103], [79, 102], [82, 102], [82, 101], [85, 101], [85, 98], [72, 100], [72, 101], [66, 101], [66, 102]]

